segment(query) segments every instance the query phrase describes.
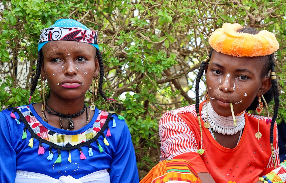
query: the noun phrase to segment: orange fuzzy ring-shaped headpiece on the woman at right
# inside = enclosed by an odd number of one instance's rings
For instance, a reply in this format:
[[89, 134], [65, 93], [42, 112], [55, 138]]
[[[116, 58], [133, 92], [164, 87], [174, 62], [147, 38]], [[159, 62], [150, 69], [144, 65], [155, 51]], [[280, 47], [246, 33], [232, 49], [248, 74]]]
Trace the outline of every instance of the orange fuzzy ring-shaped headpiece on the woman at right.
[[266, 30], [257, 34], [237, 32], [241, 28], [238, 23], [224, 23], [208, 42], [215, 51], [234, 57], [265, 56], [278, 50], [279, 43], [273, 33]]

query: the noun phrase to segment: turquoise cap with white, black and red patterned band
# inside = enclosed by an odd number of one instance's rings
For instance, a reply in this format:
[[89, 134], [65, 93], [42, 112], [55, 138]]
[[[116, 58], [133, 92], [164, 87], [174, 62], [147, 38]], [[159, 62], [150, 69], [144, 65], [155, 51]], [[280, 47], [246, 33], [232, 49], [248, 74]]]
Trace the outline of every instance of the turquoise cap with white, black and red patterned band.
[[59, 19], [49, 28], [41, 31], [38, 51], [49, 41], [79, 41], [98, 47], [98, 32], [92, 31], [82, 23], [73, 19]]

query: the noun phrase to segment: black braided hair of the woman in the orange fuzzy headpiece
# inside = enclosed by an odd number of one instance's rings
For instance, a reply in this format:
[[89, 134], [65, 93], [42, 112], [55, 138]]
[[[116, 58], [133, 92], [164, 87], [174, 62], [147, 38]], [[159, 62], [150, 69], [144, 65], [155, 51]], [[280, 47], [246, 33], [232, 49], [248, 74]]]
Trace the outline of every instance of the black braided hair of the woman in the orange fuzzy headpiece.
[[[237, 30], [237, 32], [243, 32], [243, 33], [249, 33], [249, 34], [259, 33], [259, 31], [257, 31], [255, 28], [252, 28], [252, 27], [241, 28], [241, 29]], [[196, 113], [198, 115], [200, 115], [199, 114], [199, 94], [198, 94], [199, 83], [200, 83], [200, 79], [202, 78], [202, 75], [205, 71], [206, 65], [208, 64], [207, 62], [210, 60], [210, 57], [212, 55], [212, 51], [213, 51], [213, 49], [210, 51], [210, 54], [208, 55], [209, 58], [206, 59], [206, 61], [202, 61], [201, 65], [200, 65], [200, 69], [198, 71], [198, 75], [196, 77], [196, 87], [195, 87], [196, 104], [195, 104], [195, 107], [196, 107]], [[261, 58], [264, 60], [264, 62], [266, 62], [264, 64], [266, 67], [261, 74], [264, 76], [269, 75], [269, 70], [271, 70], [271, 72], [275, 72], [274, 53], [272, 53], [271, 55], [261, 56]], [[272, 151], [274, 166], [276, 167], [275, 156], [274, 156], [274, 152], [273, 152], [272, 148], [273, 148], [273, 138], [274, 138], [273, 137], [274, 136], [273, 135], [273, 129], [274, 129], [274, 124], [275, 124], [275, 120], [277, 118], [278, 108], [279, 108], [279, 89], [278, 89], [277, 79], [271, 79], [271, 88], [265, 94], [263, 94], [263, 96], [264, 96], [267, 104], [274, 98], [275, 106], [274, 106], [274, 112], [273, 112], [272, 122], [271, 122], [271, 126], [270, 126], [270, 144], [271, 144], [271, 151]], [[258, 102], [258, 97], [255, 97], [255, 99], [253, 100], [251, 105], [246, 110], [247, 111], [248, 110], [255, 110], [256, 106], [257, 106], [257, 102]], [[265, 104], [265, 105], [267, 105], [267, 104]], [[200, 123], [200, 121], [199, 121], [199, 123]]]

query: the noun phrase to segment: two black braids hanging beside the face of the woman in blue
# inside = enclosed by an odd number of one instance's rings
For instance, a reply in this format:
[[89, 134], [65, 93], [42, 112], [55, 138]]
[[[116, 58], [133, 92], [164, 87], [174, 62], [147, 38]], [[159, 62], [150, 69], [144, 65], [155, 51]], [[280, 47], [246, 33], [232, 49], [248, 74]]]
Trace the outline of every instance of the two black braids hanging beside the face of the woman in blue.
[[[96, 56], [98, 57], [98, 63], [99, 63], [99, 68], [100, 68], [100, 78], [99, 78], [99, 85], [98, 85], [99, 93], [100, 93], [100, 96], [102, 96], [102, 98], [107, 100], [107, 97], [105, 96], [104, 92], [102, 91], [103, 79], [104, 79], [104, 65], [103, 65], [103, 60], [102, 60], [102, 54], [98, 49], [96, 49]], [[40, 50], [38, 52], [36, 74], [35, 74], [35, 77], [32, 81], [32, 86], [30, 89], [30, 97], [35, 92], [36, 86], [38, 84], [38, 80], [39, 80], [39, 77], [41, 74], [41, 67], [42, 67], [43, 59], [44, 59], [43, 53], [42, 53], [42, 50]]]

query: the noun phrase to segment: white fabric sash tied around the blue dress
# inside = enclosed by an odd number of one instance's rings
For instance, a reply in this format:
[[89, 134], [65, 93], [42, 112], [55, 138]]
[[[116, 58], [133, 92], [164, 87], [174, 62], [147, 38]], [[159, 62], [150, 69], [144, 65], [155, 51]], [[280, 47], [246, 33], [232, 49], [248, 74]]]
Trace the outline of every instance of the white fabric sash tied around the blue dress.
[[75, 179], [72, 176], [60, 176], [59, 179], [52, 178], [45, 174], [39, 174], [34, 172], [26, 172], [17, 170], [15, 183], [110, 183], [110, 176], [107, 171], [100, 170], [79, 179]]

